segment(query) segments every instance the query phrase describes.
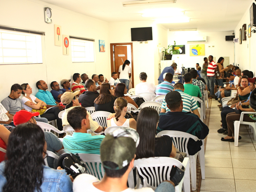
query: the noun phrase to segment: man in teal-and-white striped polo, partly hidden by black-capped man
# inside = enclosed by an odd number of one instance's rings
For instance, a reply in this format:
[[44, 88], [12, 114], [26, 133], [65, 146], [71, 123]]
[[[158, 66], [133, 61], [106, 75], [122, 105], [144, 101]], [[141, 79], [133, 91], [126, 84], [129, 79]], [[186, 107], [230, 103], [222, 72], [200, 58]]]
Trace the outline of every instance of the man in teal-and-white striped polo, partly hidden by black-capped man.
[[[195, 115], [197, 115], [200, 118], [199, 112], [197, 110], [197, 105], [196, 105], [196, 101], [193, 99], [193, 97], [191, 97], [190, 95], [184, 93], [184, 86], [182, 83], [176, 83], [174, 85], [174, 89], [173, 91], [178, 91], [181, 95], [181, 97], [183, 98], [183, 109], [182, 112], [189, 112], [192, 111], [192, 113], [194, 113]], [[163, 99], [163, 103], [162, 103], [162, 107], [161, 107], [161, 113], [165, 113], [167, 111], [170, 111], [170, 109], [166, 106], [166, 101], [165, 101], [165, 97]]]

